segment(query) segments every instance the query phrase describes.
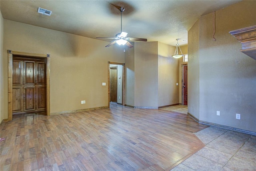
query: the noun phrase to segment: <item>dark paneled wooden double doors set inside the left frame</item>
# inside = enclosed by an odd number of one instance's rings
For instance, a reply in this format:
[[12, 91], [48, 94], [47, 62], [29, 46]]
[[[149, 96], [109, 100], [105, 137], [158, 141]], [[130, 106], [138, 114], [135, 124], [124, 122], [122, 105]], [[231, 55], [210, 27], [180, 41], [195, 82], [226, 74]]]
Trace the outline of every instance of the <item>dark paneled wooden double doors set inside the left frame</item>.
[[46, 110], [46, 63], [14, 57], [12, 61], [12, 113]]

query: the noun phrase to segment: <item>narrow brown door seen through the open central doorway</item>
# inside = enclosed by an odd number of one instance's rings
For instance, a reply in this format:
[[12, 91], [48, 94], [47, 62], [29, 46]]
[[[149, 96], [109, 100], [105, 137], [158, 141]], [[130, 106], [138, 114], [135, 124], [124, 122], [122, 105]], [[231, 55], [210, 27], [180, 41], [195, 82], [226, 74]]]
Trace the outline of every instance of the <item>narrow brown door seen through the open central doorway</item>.
[[110, 68], [110, 101], [117, 102], [117, 67]]

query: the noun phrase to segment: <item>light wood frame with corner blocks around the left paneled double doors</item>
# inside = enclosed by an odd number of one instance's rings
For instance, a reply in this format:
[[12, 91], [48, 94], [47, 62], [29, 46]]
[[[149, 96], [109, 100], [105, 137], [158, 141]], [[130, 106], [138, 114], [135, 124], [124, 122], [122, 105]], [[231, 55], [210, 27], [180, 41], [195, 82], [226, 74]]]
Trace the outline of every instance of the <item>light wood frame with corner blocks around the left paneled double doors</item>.
[[13, 55], [24, 56], [26, 58], [46, 59], [46, 115], [50, 115], [50, 55], [31, 54], [26, 52], [16, 52], [8, 50], [8, 121], [12, 121], [12, 59]]

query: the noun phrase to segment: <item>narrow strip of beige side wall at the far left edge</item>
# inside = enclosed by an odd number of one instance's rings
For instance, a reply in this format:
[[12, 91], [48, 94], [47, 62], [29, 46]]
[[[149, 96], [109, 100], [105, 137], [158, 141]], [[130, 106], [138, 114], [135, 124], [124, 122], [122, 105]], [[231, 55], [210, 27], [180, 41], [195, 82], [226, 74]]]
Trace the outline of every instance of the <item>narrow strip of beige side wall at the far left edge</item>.
[[4, 106], [4, 19], [2, 13], [0, 12], [0, 122], [4, 118], [4, 113], [8, 113], [8, 106]]

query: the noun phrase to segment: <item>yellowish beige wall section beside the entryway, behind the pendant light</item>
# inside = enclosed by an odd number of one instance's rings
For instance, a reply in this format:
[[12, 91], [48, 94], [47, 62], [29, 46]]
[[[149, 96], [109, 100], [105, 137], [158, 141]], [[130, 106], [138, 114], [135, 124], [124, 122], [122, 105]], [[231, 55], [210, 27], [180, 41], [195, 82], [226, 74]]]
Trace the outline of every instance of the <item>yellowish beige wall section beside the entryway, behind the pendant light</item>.
[[179, 103], [179, 60], [174, 46], [158, 42], [158, 107]]

